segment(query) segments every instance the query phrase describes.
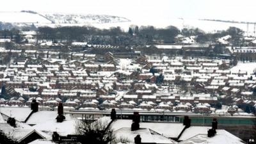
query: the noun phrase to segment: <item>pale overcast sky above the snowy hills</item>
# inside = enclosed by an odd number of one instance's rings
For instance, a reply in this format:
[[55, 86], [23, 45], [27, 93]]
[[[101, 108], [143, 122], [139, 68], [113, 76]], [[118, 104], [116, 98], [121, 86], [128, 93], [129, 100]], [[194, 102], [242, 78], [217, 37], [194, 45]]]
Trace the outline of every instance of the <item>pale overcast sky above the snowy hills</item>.
[[255, 0], [1, 0], [0, 4], [1, 12], [106, 14], [148, 23], [178, 17], [256, 22]]

